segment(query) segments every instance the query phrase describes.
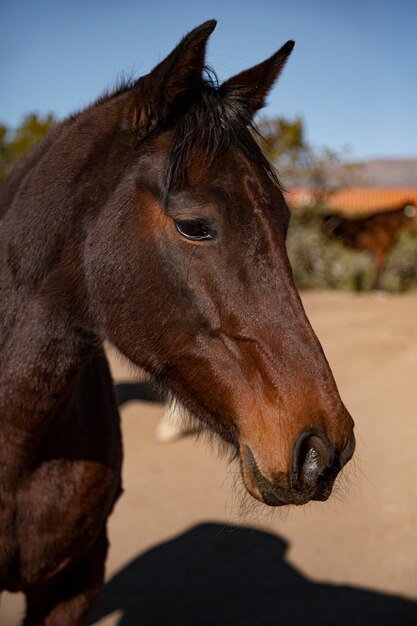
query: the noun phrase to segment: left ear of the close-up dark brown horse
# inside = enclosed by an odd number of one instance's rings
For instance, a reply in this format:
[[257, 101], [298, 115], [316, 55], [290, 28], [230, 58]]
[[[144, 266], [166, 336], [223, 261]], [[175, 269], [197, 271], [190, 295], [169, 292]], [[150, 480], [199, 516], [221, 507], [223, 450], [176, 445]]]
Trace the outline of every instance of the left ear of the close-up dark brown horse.
[[176, 48], [133, 88], [135, 126], [149, 131], [170, 115], [181, 99], [192, 98], [201, 85], [206, 46], [216, 27], [209, 20], [185, 35]]

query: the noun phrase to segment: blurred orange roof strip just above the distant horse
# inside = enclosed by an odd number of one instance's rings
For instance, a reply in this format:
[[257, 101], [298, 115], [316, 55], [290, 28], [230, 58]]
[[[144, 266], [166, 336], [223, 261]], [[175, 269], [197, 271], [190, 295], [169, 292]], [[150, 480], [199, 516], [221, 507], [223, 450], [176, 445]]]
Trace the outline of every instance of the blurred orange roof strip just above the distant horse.
[[298, 187], [290, 190], [286, 198], [294, 208], [308, 208], [323, 199], [323, 204], [335, 213], [369, 215], [397, 209], [407, 202], [417, 206], [417, 187], [352, 187], [327, 196], [323, 190]]

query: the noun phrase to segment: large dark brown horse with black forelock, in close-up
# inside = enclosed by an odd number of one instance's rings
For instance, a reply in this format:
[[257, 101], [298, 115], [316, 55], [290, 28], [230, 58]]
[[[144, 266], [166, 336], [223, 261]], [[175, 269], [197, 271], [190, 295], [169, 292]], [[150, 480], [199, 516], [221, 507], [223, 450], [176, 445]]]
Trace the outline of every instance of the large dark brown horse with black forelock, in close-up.
[[83, 623], [121, 491], [105, 338], [229, 442], [255, 498], [325, 500], [353, 422], [295, 289], [252, 118], [293, 43], [218, 85], [215, 26], [57, 127], [1, 191], [0, 588]]

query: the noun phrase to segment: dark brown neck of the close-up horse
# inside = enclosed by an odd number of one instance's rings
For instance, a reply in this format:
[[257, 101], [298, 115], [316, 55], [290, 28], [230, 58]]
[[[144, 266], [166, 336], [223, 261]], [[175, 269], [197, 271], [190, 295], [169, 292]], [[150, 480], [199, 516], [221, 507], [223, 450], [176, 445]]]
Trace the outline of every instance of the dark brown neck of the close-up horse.
[[[104, 101], [64, 125], [7, 196], [0, 223], [0, 449], [20, 450], [22, 459], [36, 451], [100, 341], [86, 314], [82, 238], [88, 211], [99, 210], [117, 184], [98, 170], [122, 104], [118, 110]], [[112, 148], [120, 156], [114, 141]], [[100, 188], [95, 206], [92, 185]]]

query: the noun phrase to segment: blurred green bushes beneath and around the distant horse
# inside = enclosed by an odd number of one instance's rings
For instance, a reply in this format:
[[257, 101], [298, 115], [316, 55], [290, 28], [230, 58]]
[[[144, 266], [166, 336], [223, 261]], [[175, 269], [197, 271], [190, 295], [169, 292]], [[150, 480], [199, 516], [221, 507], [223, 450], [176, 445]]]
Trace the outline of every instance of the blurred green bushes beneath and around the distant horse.
[[[293, 215], [287, 239], [288, 254], [300, 289], [371, 289], [371, 254], [346, 248], [324, 227], [315, 212]], [[382, 288], [399, 292], [417, 289], [417, 236], [402, 232], [382, 274]]]

